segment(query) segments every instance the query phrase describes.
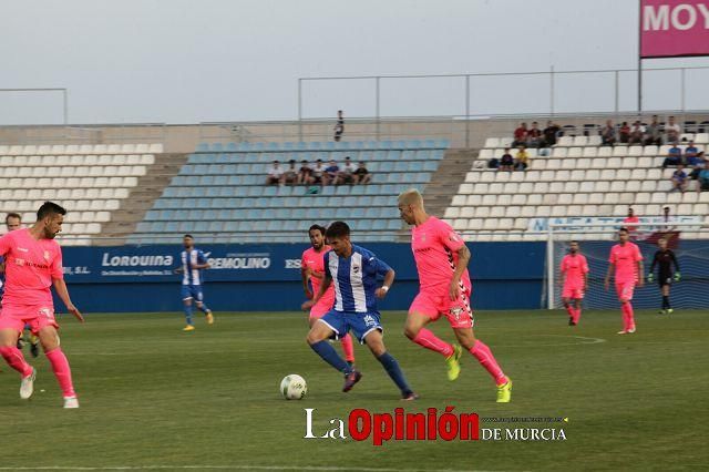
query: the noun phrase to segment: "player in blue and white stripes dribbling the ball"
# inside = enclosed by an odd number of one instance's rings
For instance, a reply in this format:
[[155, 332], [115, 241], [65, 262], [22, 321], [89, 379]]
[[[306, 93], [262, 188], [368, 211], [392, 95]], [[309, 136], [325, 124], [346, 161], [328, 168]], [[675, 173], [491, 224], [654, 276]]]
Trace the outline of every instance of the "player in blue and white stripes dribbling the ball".
[[[308, 343], [318, 356], [345, 374], [347, 392], [354, 387], [362, 374], [342, 359], [328, 339], [339, 339], [350, 330], [367, 345], [393, 382], [401, 390], [404, 400], [415, 400], [418, 396], [409, 387], [397, 360], [387, 352], [377, 310], [377, 298], [383, 298], [394, 281], [394, 270], [383, 260], [350, 242], [350, 228], [343, 222], [335, 222], [326, 232], [332, 250], [325, 254], [325, 278], [318, 294], [302, 305], [304, 310], [317, 304], [335, 284], [335, 306], [318, 319], [310, 332]], [[379, 284], [378, 277], [383, 277]]]

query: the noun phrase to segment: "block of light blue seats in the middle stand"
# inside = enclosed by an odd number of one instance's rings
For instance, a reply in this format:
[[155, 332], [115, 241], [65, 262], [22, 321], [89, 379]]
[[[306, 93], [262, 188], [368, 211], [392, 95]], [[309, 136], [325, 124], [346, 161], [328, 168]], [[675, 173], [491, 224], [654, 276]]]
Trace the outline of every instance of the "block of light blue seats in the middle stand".
[[[301, 242], [316, 222], [347, 219], [358, 240], [393, 240], [402, 229], [397, 195], [423, 187], [443, 158], [446, 141], [202, 143], [164, 188], [129, 243], [191, 233], [204, 243]], [[267, 186], [273, 161], [364, 162], [368, 185]]]

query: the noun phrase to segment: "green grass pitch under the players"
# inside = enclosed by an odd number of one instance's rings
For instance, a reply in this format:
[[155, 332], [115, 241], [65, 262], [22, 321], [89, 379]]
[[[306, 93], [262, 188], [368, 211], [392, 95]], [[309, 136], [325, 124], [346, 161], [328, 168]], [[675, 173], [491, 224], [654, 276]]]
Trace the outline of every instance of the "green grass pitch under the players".
[[[182, 332], [178, 314], [62, 316], [81, 409], [63, 410], [43, 356], [30, 401], [2, 363], [0, 470], [681, 470], [709, 464], [709, 312], [637, 314], [638, 332], [617, 336], [619, 311], [588, 311], [566, 326], [562, 311], [481, 311], [476, 332], [514, 380], [512, 403], [495, 403], [487, 373], [467, 353], [455, 382], [443, 359], [405, 339], [404, 314], [386, 312], [389, 351], [421, 394], [402, 403], [369, 351], [356, 346], [362, 381], [341, 377], [305, 343], [302, 314], [216, 314]], [[445, 320], [433, 329], [451, 339]], [[339, 346], [336, 346], [339, 351]], [[302, 401], [278, 390], [306, 378]], [[354, 408], [391, 412], [454, 406], [482, 417], [568, 417], [566, 441], [306, 440]], [[481, 428], [547, 428], [485, 424]], [[59, 469], [56, 469], [59, 468]], [[62, 469], [63, 468], [63, 469]], [[47, 469], [45, 469], [47, 470]]]

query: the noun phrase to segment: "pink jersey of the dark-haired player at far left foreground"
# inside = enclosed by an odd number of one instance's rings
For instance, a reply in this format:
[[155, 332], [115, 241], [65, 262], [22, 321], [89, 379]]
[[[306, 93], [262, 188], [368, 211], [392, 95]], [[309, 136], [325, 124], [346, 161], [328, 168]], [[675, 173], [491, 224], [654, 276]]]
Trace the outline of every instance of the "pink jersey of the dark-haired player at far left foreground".
[[0, 238], [6, 260], [3, 305], [52, 306], [52, 279], [64, 278], [62, 249], [54, 239], [34, 239], [29, 229]]

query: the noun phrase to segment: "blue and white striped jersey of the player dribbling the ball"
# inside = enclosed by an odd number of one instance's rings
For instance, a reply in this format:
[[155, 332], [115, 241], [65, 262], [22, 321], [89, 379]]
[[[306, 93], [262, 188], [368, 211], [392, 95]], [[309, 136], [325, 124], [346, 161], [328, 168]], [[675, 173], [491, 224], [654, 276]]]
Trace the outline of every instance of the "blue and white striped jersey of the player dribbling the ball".
[[335, 285], [332, 308], [336, 311], [377, 311], [377, 277], [387, 274], [391, 267], [372, 252], [354, 245], [348, 258], [338, 257], [333, 250], [323, 257], [327, 275]]

